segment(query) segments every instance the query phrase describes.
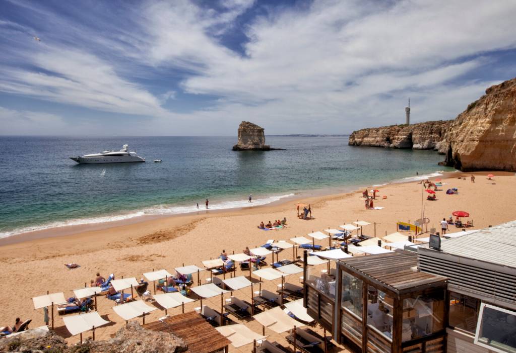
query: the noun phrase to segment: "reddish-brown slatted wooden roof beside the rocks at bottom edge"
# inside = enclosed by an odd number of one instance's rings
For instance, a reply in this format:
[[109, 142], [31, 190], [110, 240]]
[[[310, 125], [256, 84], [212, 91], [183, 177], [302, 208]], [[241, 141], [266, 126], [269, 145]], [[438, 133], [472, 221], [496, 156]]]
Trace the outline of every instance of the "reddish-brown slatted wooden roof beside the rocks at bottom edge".
[[188, 343], [189, 353], [212, 353], [231, 344], [195, 311], [169, 317], [163, 322], [145, 324], [143, 328], [175, 334]]

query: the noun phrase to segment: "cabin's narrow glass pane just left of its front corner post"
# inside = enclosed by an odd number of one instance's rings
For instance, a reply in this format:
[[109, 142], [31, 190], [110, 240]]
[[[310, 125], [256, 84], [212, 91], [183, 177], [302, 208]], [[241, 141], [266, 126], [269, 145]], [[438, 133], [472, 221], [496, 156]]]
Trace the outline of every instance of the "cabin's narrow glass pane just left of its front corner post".
[[391, 340], [393, 307], [394, 298], [375, 287], [367, 287], [367, 325]]

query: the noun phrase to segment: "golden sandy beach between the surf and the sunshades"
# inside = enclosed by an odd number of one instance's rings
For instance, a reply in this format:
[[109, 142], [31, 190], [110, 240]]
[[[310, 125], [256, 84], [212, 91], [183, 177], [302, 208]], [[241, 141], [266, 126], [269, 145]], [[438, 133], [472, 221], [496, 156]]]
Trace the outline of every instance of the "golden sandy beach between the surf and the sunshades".
[[[361, 200], [362, 190], [340, 195], [289, 200], [280, 204], [212, 213], [200, 211], [198, 214], [153, 219], [135, 224], [118, 225], [102, 230], [91, 230], [73, 235], [34, 239], [30, 241], [0, 246], [2, 262], [2, 281], [0, 283], [0, 325], [12, 325], [14, 318], [33, 319], [31, 327], [44, 325], [43, 311], [34, 310], [31, 297], [46, 294], [47, 291], [64, 292], [65, 297], [73, 295], [72, 290], [89, 284], [95, 272], [107, 277], [115, 273], [117, 278], [142, 277], [143, 272], [153, 269], [167, 269], [174, 273], [175, 267], [196, 264], [216, 258], [225, 249], [228, 253], [240, 253], [246, 246], [254, 248], [268, 239], [288, 240], [305, 236], [312, 231], [335, 228], [340, 224], [357, 220], [375, 222], [376, 225], [364, 227], [363, 233], [382, 237], [385, 233], [396, 231], [396, 222], [408, 222], [420, 218], [422, 196], [425, 216], [430, 218], [431, 226], [438, 228], [442, 218], [448, 218], [455, 210], [470, 213], [473, 228], [487, 227], [514, 219], [513, 195], [516, 191], [516, 177], [513, 173], [493, 172], [494, 180], [487, 180], [488, 172], [476, 172], [476, 182], [470, 181], [471, 173], [450, 173], [442, 177], [442, 191], [437, 191], [437, 201], [427, 201], [422, 193], [422, 185], [417, 182], [389, 184], [379, 187], [375, 206], [379, 210], [367, 210]], [[457, 179], [464, 176], [466, 179]], [[446, 195], [448, 188], [456, 187], [457, 195]], [[378, 197], [379, 196], [379, 197]], [[386, 196], [386, 199], [382, 199]], [[313, 220], [296, 217], [295, 203], [310, 203]], [[261, 222], [286, 217], [288, 227], [281, 231], [262, 231], [256, 226]], [[450, 232], [459, 231], [458, 228]], [[422, 237], [428, 236], [422, 235]], [[328, 241], [317, 242], [327, 245]], [[292, 258], [292, 252], [280, 254], [281, 258]], [[80, 268], [69, 270], [64, 264], [75, 262]], [[270, 263], [270, 261], [269, 261]], [[322, 266], [311, 271], [324, 269]], [[248, 275], [248, 272], [237, 275]], [[196, 277], [196, 276], [194, 276]], [[202, 283], [209, 277], [201, 273]], [[255, 278], [257, 280], [257, 278]], [[299, 276], [287, 277], [287, 281], [299, 284]], [[278, 281], [279, 283], [279, 281]], [[278, 283], [263, 283], [262, 288], [274, 288]], [[257, 290], [257, 289], [255, 289]], [[250, 289], [235, 291], [234, 295], [250, 301]], [[229, 294], [227, 295], [229, 297]], [[203, 300], [203, 304], [220, 310], [219, 298]], [[109, 338], [117, 331], [123, 320], [111, 309], [114, 302], [100, 297], [98, 310], [106, 319], [116, 324], [96, 330], [96, 339]], [[200, 306], [199, 302], [186, 305], [186, 310]], [[181, 308], [169, 310], [169, 314], [180, 313]], [[146, 322], [164, 316], [163, 310], [155, 310], [146, 317]], [[233, 318], [234, 319], [234, 318]], [[138, 319], [141, 322], [141, 318]], [[70, 337], [62, 318], [55, 315], [56, 331], [69, 343], [78, 337]], [[261, 332], [261, 326], [250, 321], [248, 327]], [[282, 344], [282, 335], [267, 331], [273, 340]], [[89, 334], [85, 335], [89, 337]], [[285, 336], [285, 334], [283, 334]], [[251, 345], [252, 346], [252, 345]], [[249, 351], [251, 346], [230, 351]]]

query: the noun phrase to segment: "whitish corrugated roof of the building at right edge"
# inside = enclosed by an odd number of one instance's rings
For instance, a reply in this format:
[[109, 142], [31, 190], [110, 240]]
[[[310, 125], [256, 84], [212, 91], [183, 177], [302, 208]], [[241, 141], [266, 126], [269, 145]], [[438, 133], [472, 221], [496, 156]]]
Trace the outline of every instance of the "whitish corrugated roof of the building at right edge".
[[[420, 248], [429, 246], [424, 244]], [[516, 268], [516, 221], [443, 240], [440, 253]]]

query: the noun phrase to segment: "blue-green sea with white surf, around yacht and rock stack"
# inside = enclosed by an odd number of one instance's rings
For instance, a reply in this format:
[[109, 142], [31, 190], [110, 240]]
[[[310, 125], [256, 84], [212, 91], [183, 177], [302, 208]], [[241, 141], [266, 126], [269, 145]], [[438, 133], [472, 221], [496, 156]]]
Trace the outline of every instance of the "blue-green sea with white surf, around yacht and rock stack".
[[[415, 179], [434, 151], [350, 147], [346, 137], [267, 137], [277, 151], [231, 150], [236, 137], [0, 136], [0, 238], [74, 224], [263, 205], [324, 190]], [[69, 156], [129, 144], [146, 163], [78, 165]], [[160, 158], [163, 163], [153, 163]], [[433, 174], [437, 175], [437, 174]]]

